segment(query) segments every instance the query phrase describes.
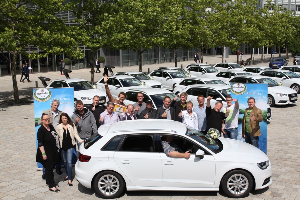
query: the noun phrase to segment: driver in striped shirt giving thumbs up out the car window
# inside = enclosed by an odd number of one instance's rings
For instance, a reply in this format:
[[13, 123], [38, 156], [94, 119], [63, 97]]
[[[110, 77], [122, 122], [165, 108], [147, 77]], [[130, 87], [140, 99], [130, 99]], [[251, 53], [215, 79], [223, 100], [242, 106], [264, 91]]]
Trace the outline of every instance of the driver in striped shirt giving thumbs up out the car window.
[[161, 144], [164, 148], [164, 153], [167, 156], [175, 157], [175, 158], [190, 158], [189, 151], [186, 151], [185, 153], [173, 142], [173, 137], [170, 136], [164, 136], [161, 138], [163, 141], [161, 141]]

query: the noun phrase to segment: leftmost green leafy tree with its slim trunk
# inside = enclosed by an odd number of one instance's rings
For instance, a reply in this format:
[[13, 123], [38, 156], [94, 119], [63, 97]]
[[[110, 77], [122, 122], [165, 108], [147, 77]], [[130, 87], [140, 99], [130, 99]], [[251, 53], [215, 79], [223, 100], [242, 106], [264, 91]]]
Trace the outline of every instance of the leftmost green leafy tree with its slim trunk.
[[[75, 56], [80, 55], [80, 52], [76, 51], [78, 45], [65, 34], [67, 29], [64, 22], [55, 17], [55, 12], [61, 11], [61, 4], [60, 0], [1, 0], [0, 51], [12, 67], [16, 104], [20, 103], [16, 81], [17, 57], [20, 53], [31, 59], [62, 51], [73, 53]], [[29, 44], [46, 53], [28, 53]], [[65, 49], [64, 44], [68, 46]], [[5, 56], [4, 52], [9, 52], [11, 58]]]

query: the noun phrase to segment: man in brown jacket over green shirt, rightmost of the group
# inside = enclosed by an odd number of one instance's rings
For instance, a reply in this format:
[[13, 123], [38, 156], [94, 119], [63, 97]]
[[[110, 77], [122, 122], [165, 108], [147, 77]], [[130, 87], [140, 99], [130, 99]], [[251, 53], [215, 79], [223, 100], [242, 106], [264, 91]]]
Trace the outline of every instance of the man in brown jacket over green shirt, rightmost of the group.
[[242, 137], [245, 142], [259, 148], [258, 136], [261, 136], [259, 122], [262, 121], [262, 111], [256, 108], [255, 99], [250, 97], [248, 99], [249, 108], [245, 109], [243, 123], [242, 123]]

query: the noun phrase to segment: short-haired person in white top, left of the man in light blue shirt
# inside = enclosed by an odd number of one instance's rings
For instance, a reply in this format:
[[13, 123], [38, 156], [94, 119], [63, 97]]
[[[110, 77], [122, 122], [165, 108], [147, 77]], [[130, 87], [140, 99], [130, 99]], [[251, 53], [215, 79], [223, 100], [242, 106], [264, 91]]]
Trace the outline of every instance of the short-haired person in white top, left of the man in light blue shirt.
[[194, 129], [198, 130], [198, 116], [193, 109], [193, 103], [188, 101], [186, 104], [187, 110], [181, 111], [179, 117], [182, 119], [182, 123], [187, 124]]

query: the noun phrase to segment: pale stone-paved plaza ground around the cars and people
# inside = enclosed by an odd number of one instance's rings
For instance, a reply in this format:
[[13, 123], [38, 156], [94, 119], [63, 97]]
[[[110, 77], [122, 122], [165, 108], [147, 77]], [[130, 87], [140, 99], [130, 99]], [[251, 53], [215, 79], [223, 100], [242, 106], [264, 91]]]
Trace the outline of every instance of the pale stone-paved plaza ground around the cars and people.
[[[249, 55], [243, 55], [246, 60]], [[257, 57], [257, 55], [256, 55]], [[227, 62], [236, 62], [236, 55], [224, 58]], [[221, 62], [221, 56], [205, 56], [204, 63], [215, 64]], [[185, 67], [193, 61], [178, 62]], [[291, 64], [291, 63], [289, 63]], [[268, 66], [268, 62], [255, 63], [255, 65]], [[174, 66], [174, 63], [144, 65], [143, 72], [155, 70], [160, 66]], [[138, 71], [138, 66], [115, 68], [113, 72]], [[83, 78], [90, 81], [90, 69], [73, 70], [71, 78]], [[95, 82], [102, 76], [95, 73]], [[54, 173], [55, 181], [60, 185], [60, 193], [50, 192], [45, 180], [41, 178], [42, 172], [37, 171], [36, 139], [34, 124], [34, 109], [32, 89], [43, 85], [39, 76], [54, 79], [65, 78], [60, 72], [30, 74], [32, 83], [19, 82], [17, 76], [20, 105], [13, 104], [12, 76], [0, 77], [0, 199], [99, 199], [93, 189], [87, 189], [74, 178], [73, 187], [63, 182], [66, 176], [64, 168], [62, 175]], [[50, 83], [51, 81], [47, 82]], [[264, 190], [252, 191], [244, 199], [268, 199], [268, 200], [300, 200], [300, 127], [298, 113], [299, 103], [287, 106], [275, 106], [272, 108], [272, 120], [268, 122], [267, 153], [270, 159], [273, 173], [272, 184]], [[238, 152], [236, 152], [238, 154]], [[217, 166], [221, 167], [221, 166]], [[238, 167], [238, 166], [237, 166]], [[188, 169], [188, 166], [187, 166]], [[141, 169], [143, 170], [143, 169]], [[189, 169], [191, 173], [193, 170]], [[147, 172], [145, 172], [147, 173]], [[180, 172], [178, 172], [180, 173]], [[203, 172], [205, 173], [205, 172]], [[223, 192], [190, 192], [190, 191], [129, 191], [125, 192], [120, 200], [202, 200], [202, 199], [228, 199]]]

